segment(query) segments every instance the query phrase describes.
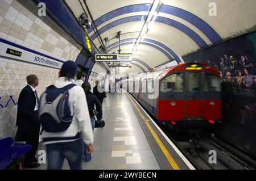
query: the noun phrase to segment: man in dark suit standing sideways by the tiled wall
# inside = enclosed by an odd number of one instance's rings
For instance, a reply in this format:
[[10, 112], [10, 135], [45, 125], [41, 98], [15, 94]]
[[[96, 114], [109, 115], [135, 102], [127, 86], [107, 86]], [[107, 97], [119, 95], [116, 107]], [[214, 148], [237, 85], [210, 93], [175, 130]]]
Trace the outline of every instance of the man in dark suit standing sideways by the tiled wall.
[[38, 150], [40, 123], [38, 120], [39, 98], [35, 87], [39, 84], [36, 75], [27, 76], [28, 85], [22, 89], [18, 99], [18, 112], [16, 125], [16, 141], [26, 141], [26, 144], [32, 145], [30, 151], [25, 154], [24, 167], [34, 168], [40, 164], [35, 158]]

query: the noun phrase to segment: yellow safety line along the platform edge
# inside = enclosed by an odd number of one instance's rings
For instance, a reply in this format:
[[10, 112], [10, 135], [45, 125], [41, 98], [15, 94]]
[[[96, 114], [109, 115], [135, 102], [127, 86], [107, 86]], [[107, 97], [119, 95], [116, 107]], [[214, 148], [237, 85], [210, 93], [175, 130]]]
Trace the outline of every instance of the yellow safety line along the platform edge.
[[[130, 95], [128, 97], [130, 98]], [[170, 163], [172, 169], [180, 170], [180, 167], [177, 165], [177, 163], [175, 162], [174, 158], [172, 158], [171, 154], [166, 149], [166, 146], [163, 145], [163, 142], [160, 140], [160, 138], [157, 136], [155, 131], [152, 129], [152, 127], [150, 126], [150, 123], [148, 123], [148, 120], [142, 115], [142, 112], [139, 110], [137, 105], [134, 103], [133, 99], [131, 99], [131, 102], [133, 102], [133, 105], [136, 108], [136, 110], [139, 112], [139, 115], [141, 115], [142, 119], [145, 121], [145, 123], [147, 125], [147, 128], [151, 132], [152, 136], [155, 138], [155, 141], [158, 143], [160, 149], [163, 151], [163, 154], [166, 156], [166, 158], [167, 158], [168, 162]]]

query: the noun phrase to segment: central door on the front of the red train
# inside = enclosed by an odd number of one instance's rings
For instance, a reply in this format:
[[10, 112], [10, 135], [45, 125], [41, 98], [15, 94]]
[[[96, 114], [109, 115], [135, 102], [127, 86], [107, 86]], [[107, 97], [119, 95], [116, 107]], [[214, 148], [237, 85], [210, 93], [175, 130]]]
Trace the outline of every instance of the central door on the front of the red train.
[[201, 72], [185, 73], [185, 105], [184, 119], [201, 120], [202, 117], [202, 94]]

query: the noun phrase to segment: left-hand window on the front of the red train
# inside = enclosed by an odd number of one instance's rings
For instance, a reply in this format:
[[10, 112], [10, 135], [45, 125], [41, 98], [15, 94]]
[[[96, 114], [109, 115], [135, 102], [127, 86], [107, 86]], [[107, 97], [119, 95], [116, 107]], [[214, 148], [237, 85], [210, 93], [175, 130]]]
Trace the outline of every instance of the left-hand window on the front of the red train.
[[172, 74], [161, 81], [161, 92], [183, 92], [184, 74]]

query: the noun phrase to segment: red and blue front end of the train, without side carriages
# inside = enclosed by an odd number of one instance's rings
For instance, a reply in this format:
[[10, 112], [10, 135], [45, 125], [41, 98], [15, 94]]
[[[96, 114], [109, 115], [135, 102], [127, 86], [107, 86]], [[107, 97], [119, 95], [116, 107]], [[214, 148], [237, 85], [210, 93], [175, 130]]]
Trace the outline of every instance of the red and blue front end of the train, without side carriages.
[[221, 119], [218, 72], [205, 64], [183, 64], [166, 71], [159, 83], [160, 121], [184, 127], [204, 126]]

